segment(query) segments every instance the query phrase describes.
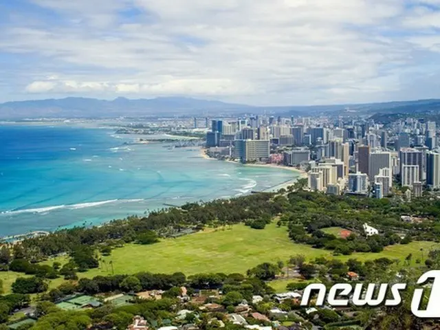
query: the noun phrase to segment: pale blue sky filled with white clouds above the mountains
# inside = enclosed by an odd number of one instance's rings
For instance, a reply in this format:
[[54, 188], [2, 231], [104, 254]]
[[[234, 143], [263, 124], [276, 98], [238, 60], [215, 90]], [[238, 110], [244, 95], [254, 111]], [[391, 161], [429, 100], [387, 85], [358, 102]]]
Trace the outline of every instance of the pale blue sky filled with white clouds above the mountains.
[[440, 98], [440, 0], [0, 0], [0, 102]]

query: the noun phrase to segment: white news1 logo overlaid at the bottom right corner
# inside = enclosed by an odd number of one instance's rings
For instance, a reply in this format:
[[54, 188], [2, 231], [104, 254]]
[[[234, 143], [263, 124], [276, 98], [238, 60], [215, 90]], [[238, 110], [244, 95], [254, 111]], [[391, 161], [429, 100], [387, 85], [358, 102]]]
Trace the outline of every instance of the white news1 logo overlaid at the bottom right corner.
[[[440, 318], [440, 270], [430, 270], [417, 281], [418, 285], [423, 285], [428, 280], [433, 279], [431, 293], [428, 298], [428, 305], [426, 309], [420, 310], [420, 304], [425, 293], [424, 289], [415, 289], [411, 300], [411, 312], [418, 318]], [[386, 299], [388, 293], [387, 283], [374, 284], [371, 283], [364, 290], [363, 284], [356, 284], [353, 291], [353, 286], [349, 283], [338, 283], [333, 285], [329, 294], [327, 295], [327, 303], [333, 307], [348, 306], [349, 296], [352, 294], [351, 303], [355, 306], [371, 306], [377, 307], [384, 303], [385, 306], [397, 306], [401, 304], [401, 290], [406, 289], [406, 283], [395, 283], [390, 286], [391, 299]], [[375, 296], [375, 289], [379, 287], [379, 291]], [[316, 305], [324, 305], [324, 300], [327, 294], [327, 288], [322, 283], [314, 283], [308, 285], [303, 294], [301, 300], [301, 306], [308, 306], [311, 298], [311, 292], [318, 291], [318, 298], [316, 299]], [[374, 297], [375, 296], [375, 297]]]

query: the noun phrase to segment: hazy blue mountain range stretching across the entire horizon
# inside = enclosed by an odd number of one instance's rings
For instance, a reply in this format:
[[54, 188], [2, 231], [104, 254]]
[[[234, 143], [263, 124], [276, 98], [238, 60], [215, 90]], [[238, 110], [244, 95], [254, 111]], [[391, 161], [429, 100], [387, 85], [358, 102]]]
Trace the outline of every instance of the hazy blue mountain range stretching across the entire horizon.
[[241, 113], [267, 113], [274, 115], [391, 115], [395, 113], [437, 113], [440, 100], [414, 100], [369, 104], [336, 104], [292, 107], [252, 107], [217, 100], [162, 97], [131, 100], [98, 100], [96, 98], [61, 98], [26, 100], [0, 104], [0, 119], [24, 118], [117, 118], [164, 115], [239, 115]]

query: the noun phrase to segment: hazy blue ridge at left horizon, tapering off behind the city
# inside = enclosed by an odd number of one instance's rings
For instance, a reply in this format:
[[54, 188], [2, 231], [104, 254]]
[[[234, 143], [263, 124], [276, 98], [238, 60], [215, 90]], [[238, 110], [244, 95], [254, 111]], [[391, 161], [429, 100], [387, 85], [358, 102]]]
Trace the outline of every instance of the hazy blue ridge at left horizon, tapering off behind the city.
[[96, 98], [61, 98], [28, 100], [0, 104], [0, 118], [115, 118], [160, 115], [195, 115], [203, 112], [240, 112], [252, 109], [244, 104], [195, 98], [153, 98], [98, 100]]

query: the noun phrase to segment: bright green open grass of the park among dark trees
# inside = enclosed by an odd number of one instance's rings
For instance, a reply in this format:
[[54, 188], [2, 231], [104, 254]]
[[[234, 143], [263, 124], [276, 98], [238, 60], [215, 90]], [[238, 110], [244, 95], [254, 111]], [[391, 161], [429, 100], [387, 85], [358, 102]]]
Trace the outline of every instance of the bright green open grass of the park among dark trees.
[[[380, 254], [354, 253], [351, 256], [335, 258], [347, 261], [354, 258], [362, 261], [387, 257], [401, 259], [412, 253], [412, 263], [421, 259], [423, 248], [424, 257], [434, 247], [432, 242], [413, 242], [408, 245], [388, 247]], [[294, 254], [304, 254], [308, 260], [318, 256], [331, 258], [331, 251], [317, 250], [308, 245], [292, 243], [285, 227], [278, 228], [275, 223], [267, 225], [264, 230], [254, 230], [245, 225], [234, 225], [232, 229], [206, 231], [177, 239], [164, 239], [154, 245], [127, 244], [115, 249], [111, 256], [102, 257], [100, 268], [86, 273], [78, 273], [80, 277], [94, 277], [112, 274], [110, 261], [113, 263], [114, 274], [133, 274], [136, 272], [173, 273], [184, 272], [186, 275], [201, 272], [234, 272], [244, 273], [246, 270], [263, 262], [276, 263], [287, 261]], [[51, 259], [65, 263], [65, 257]], [[17, 278], [17, 274], [0, 272], [5, 292]], [[50, 287], [56, 287], [63, 282], [58, 278], [51, 282]], [[287, 284], [287, 283], [286, 283]]]

